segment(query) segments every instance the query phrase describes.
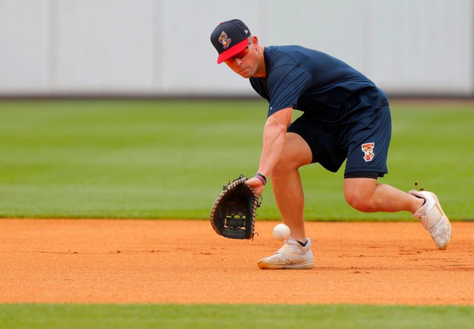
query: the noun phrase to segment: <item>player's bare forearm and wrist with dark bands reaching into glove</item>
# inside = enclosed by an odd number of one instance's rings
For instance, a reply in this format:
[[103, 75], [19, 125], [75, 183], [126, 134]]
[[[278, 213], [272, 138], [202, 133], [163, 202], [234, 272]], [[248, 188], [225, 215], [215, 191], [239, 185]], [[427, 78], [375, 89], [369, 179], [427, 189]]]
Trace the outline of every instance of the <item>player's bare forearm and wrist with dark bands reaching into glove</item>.
[[[265, 123], [263, 129], [262, 154], [260, 156], [258, 173], [267, 178], [270, 176], [270, 173], [283, 152], [286, 129], [291, 123], [292, 113], [292, 107], [284, 108], [270, 115]], [[247, 180], [246, 183], [248, 186], [253, 188], [256, 194], [262, 194], [264, 184], [261, 180], [254, 177]]]

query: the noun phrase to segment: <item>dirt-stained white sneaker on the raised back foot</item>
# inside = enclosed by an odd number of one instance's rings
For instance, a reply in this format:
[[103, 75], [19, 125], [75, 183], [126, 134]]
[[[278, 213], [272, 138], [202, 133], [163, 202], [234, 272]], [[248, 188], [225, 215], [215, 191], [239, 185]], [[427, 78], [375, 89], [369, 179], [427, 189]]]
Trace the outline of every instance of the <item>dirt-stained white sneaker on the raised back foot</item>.
[[426, 200], [425, 204], [412, 215], [430, 233], [433, 241], [435, 241], [436, 248], [439, 250], [446, 249], [451, 241], [452, 228], [435, 193], [417, 191], [416, 189], [412, 189], [408, 193]]

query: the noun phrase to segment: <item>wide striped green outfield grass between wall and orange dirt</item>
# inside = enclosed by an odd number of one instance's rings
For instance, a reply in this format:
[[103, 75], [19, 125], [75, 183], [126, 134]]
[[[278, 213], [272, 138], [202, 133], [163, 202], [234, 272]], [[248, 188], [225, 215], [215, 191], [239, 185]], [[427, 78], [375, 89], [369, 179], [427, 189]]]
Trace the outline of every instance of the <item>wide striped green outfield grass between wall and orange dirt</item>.
[[[474, 218], [470, 105], [391, 106], [389, 175], [434, 190], [450, 219]], [[258, 167], [264, 101], [0, 101], [0, 217], [208, 218], [222, 185]], [[306, 218], [364, 214], [342, 193], [343, 168], [301, 169]], [[271, 185], [259, 219], [278, 219]]]

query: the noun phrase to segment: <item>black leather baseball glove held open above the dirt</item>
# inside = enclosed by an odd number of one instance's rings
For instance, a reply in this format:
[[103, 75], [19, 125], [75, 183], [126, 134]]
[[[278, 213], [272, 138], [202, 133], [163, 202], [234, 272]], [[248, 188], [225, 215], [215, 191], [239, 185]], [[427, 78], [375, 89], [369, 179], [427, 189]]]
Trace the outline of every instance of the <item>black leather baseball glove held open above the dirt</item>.
[[253, 239], [255, 213], [260, 207], [257, 194], [240, 175], [224, 186], [211, 209], [211, 225], [218, 235], [231, 239]]

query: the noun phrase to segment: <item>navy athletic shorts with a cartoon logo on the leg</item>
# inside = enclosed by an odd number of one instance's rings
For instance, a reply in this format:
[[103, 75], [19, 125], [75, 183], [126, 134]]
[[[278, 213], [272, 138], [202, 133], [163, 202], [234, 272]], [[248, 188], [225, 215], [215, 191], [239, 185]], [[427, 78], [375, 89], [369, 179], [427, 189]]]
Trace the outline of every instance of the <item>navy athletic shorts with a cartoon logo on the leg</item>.
[[287, 130], [300, 135], [318, 162], [336, 172], [347, 158], [344, 176], [383, 177], [388, 173], [387, 154], [392, 136], [392, 121], [388, 105], [372, 115], [341, 126], [324, 126], [316, 115], [303, 113]]

